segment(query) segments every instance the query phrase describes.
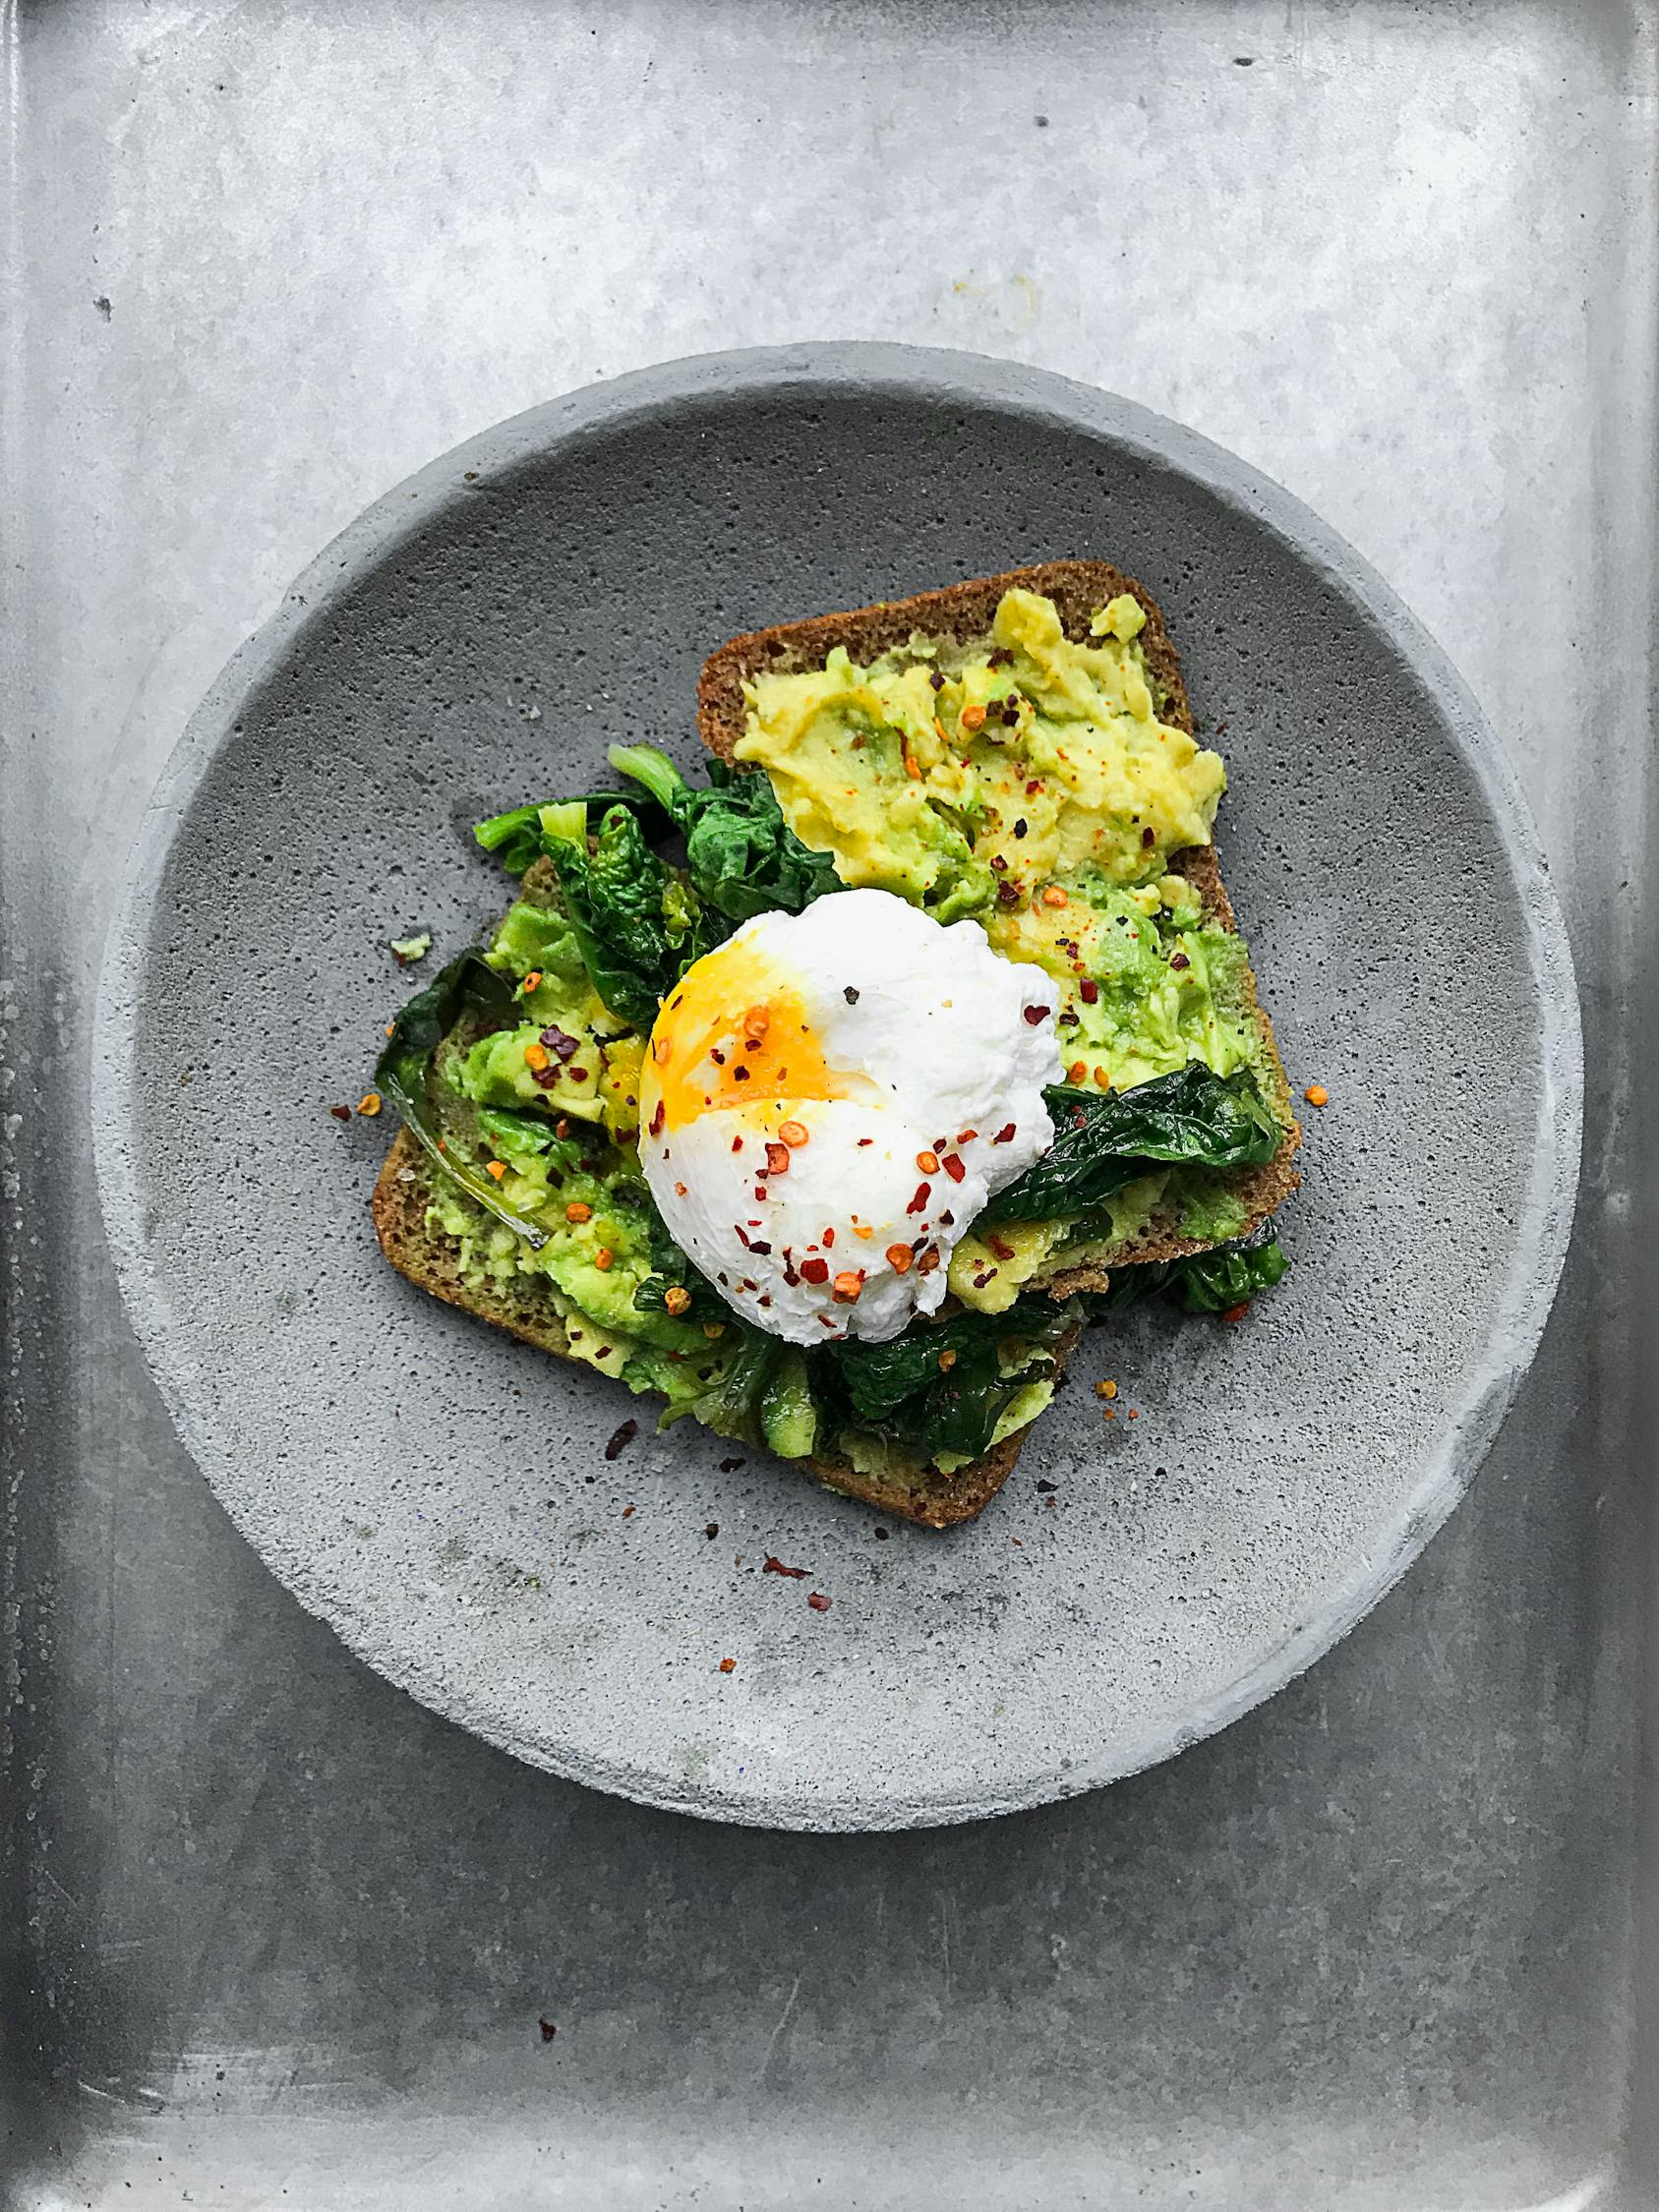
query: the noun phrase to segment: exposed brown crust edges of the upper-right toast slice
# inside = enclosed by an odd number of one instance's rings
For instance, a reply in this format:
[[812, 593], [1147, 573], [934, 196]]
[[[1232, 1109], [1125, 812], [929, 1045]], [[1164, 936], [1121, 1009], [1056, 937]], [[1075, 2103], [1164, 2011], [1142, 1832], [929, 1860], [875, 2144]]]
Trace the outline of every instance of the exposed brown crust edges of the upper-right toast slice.
[[[710, 752], [730, 761], [745, 728], [743, 684], [761, 672], [787, 675], [801, 668], [823, 668], [836, 646], [845, 646], [854, 661], [872, 661], [894, 650], [920, 633], [922, 637], [951, 639], [953, 644], [975, 644], [989, 639], [991, 617], [1004, 591], [1035, 591], [1053, 599], [1066, 637], [1088, 635], [1091, 615], [1130, 593], [1146, 608], [1146, 628], [1139, 646], [1146, 657], [1146, 675], [1152, 686], [1157, 712], [1177, 730], [1192, 734], [1192, 706], [1181, 681], [1181, 657], [1164, 626], [1164, 611], [1135, 577], [1124, 575], [1104, 560], [1053, 560], [1033, 568], [1011, 568], [1004, 575], [973, 577], [967, 584], [947, 584], [942, 591], [925, 591], [911, 599], [880, 599], [874, 606], [858, 606], [843, 615], [812, 615], [805, 622], [781, 622], [770, 630], [748, 630], [728, 639], [703, 661], [697, 684], [697, 732]], [[1232, 902], [1221, 883], [1212, 845], [1192, 845], [1175, 854], [1170, 869], [1188, 878], [1199, 894], [1203, 918], [1219, 929], [1237, 933]], [[1239, 1168], [1228, 1177], [1228, 1188], [1245, 1208], [1245, 1225], [1237, 1230], [1248, 1237], [1283, 1203], [1296, 1188], [1296, 1146], [1301, 1126], [1290, 1110], [1290, 1086], [1274, 1042], [1267, 1011], [1256, 998], [1256, 978], [1243, 971], [1245, 1006], [1261, 1024], [1267, 1048], [1270, 1106], [1285, 1124], [1285, 1141], [1274, 1159], [1261, 1168]], [[1181, 1237], [1172, 1214], [1150, 1217], [1133, 1241], [1110, 1252], [1110, 1265], [1091, 1259], [1086, 1265], [1060, 1267], [1029, 1287], [1042, 1287], [1053, 1296], [1071, 1296], [1082, 1290], [1106, 1290], [1113, 1267], [1137, 1265], [1141, 1261], [1179, 1259], [1186, 1252], [1206, 1250], [1208, 1239]]]

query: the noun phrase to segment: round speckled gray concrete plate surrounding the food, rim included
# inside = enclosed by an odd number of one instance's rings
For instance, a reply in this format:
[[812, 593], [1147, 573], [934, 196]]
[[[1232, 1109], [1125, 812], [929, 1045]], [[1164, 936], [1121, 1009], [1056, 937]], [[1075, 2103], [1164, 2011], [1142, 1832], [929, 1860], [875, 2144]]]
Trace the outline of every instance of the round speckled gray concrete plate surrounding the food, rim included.
[[[1013, 1478], [1055, 1484], [1018, 1548], [998, 1506], [883, 1542], [765, 1458], [721, 1473], [728, 1447], [688, 1425], [606, 1462], [624, 1394], [378, 1261], [387, 1133], [325, 1108], [363, 1091], [400, 995], [387, 940], [429, 925], [445, 956], [500, 905], [476, 816], [602, 781], [617, 739], [684, 752], [728, 633], [1066, 553], [1157, 593], [1197, 712], [1225, 721], [1228, 880], [1292, 1079], [1334, 1097], [1283, 1217], [1287, 1290], [1239, 1332], [1093, 1336]], [[1577, 1175], [1577, 1004], [1537, 845], [1383, 584], [1175, 425], [885, 347], [644, 372], [354, 524], [161, 781], [95, 1055], [133, 1318], [276, 1573], [520, 1756], [781, 1827], [1062, 1796], [1314, 1659], [1473, 1473]], [[1104, 1427], [1102, 1371], [1135, 1425]]]

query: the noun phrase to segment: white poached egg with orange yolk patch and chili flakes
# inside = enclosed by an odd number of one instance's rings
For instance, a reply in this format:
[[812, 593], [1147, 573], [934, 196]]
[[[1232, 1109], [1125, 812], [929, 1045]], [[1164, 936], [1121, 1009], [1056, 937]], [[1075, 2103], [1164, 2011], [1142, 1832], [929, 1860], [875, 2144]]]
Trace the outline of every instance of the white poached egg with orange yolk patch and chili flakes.
[[885, 1343], [1053, 1144], [1055, 984], [891, 891], [761, 914], [650, 1033], [639, 1157], [675, 1243], [794, 1345]]

